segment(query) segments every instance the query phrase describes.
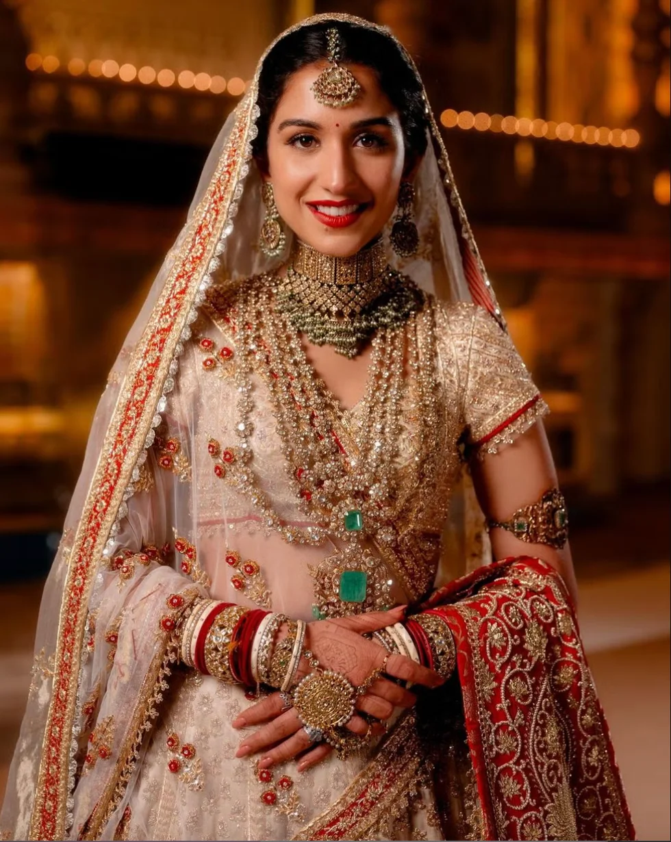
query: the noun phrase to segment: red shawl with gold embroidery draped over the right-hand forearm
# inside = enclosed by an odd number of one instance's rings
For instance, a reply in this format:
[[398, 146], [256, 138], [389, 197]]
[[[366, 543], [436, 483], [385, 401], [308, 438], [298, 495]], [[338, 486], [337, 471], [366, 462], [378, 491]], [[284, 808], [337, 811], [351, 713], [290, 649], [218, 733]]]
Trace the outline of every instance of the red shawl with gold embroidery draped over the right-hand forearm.
[[[634, 839], [561, 578], [509, 558], [436, 591], [457, 671], [297, 839], [370, 839], [431, 779], [445, 839]], [[465, 743], [467, 748], [465, 747]]]

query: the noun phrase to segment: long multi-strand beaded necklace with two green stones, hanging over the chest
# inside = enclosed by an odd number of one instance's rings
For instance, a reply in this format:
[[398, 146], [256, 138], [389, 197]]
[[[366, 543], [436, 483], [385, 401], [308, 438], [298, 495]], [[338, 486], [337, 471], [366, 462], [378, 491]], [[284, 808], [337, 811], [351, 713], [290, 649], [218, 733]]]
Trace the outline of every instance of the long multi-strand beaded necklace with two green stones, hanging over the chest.
[[[264, 527], [276, 530], [288, 543], [320, 546], [340, 539], [336, 549], [311, 573], [315, 580], [315, 616], [342, 616], [389, 604], [391, 580], [370, 546], [394, 552], [394, 523], [402, 500], [397, 498], [397, 454], [402, 434], [402, 397], [407, 389], [404, 360], [417, 387], [415, 453], [437, 429], [435, 418], [434, 348], [424, 347], [417, 317], [404, 330], [382, 330], [372, 342], [370, 372], [354, 441], [338, 439], [342, 429], [336, 398], [317, 377], [301, 339], [274, 306], [274, 278], [249, 280], [236, 296], [233, 321], [239, 351], [235, 382], [239, 445], [232, 470], [226, 474], [261, 515]], [[427, 314], [429, 316], [429, 314]], [[420, 360], [421, 356], [421, 360]], [[420, 363], [423, 363], [421, 365]], [[310, 525], [287, 524], [264, 493], [253, 464], [253, 386], [256, 371], [269, 389], [280, 436], [285, 471], [296, 490], [299, 509]], [[422, 459], [413, 470], [424, 469]], [[415, 479], [410, 482], [415, 484]], [[370, 545], [369, 541], [374, 544]]]

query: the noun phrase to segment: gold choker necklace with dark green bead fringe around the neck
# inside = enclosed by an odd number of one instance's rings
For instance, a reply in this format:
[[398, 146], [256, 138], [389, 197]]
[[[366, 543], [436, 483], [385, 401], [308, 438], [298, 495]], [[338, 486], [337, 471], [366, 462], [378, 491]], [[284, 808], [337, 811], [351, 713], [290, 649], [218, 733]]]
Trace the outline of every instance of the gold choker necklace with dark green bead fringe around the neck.
[[423, 300], [412, 281], [386, 264], [381, 239], [347, 258], [297, 241], [275, 295], [297, 331], [350, 359], [376, 331], [400, 328]]

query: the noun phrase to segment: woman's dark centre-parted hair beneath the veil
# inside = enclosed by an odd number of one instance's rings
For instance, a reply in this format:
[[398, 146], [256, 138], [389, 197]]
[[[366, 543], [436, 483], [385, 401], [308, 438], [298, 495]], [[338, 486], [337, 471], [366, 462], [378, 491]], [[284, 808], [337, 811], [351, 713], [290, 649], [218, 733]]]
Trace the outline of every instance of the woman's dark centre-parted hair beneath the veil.
[[422, 88], [413, 70], [391, 38], [375, 29], [343, 21], [324, 21], [296, 29], [274, 45], [264, 61], [258, 80], [258, 135], [253, 154], [263, 158], [270, 121], [292, 73], [315, 61], [328, 58], [326, 33], [338, 29], [339, 61], [362, 64], [377, 74], [380, 87], [401, 116], [406, 161], [420, 157], [426, 150], [427, 119]]

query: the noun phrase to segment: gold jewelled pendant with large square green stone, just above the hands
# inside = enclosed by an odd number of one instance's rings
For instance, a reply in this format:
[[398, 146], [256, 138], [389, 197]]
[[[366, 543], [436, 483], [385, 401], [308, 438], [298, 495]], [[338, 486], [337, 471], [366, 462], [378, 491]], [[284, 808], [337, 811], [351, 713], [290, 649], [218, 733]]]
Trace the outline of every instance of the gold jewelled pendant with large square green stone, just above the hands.
[[386, 565], [358, 543], [307, 568], [314, 580], [312, 616], [316, 620], [384, 611], [391, 605], [393, 580]]

